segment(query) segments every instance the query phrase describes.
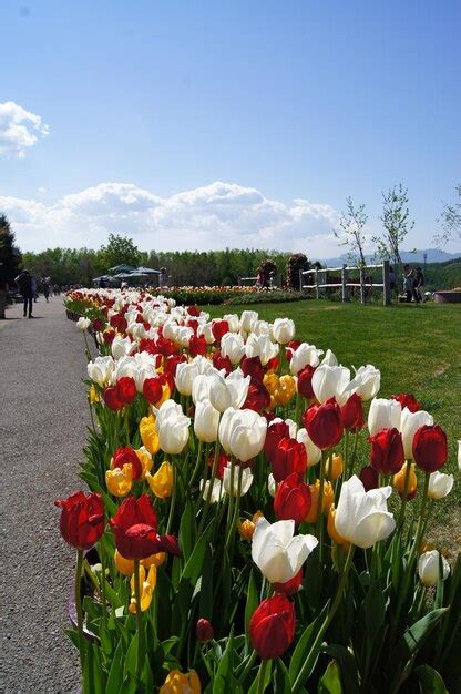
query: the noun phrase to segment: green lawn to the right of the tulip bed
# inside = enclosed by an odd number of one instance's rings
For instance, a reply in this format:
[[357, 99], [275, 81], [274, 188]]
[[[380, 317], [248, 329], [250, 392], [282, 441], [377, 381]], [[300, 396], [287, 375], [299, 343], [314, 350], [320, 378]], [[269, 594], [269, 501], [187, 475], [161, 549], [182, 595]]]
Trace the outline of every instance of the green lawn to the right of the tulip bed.
[[[260, 318], [288, 316], [297, 339], [328, 347], [346, 366], [373, 364], [381, 371], [380, 397], [412, 392], [447, 431], [449, 460], [443, 471], [454, 473], [454, 488], [434, 503], [431, 540], [450, 553], [459, 551], [461, 484], [457, 466], [461, 439], [461, 306], [398, 304], [390, 307], [306, 300], [283, 305], [203, 307], [212, 317], [257, 310]], [[366, 462], [363, 447], [362, 465]], [[458, 549], [457, 549], [458, 547]]]

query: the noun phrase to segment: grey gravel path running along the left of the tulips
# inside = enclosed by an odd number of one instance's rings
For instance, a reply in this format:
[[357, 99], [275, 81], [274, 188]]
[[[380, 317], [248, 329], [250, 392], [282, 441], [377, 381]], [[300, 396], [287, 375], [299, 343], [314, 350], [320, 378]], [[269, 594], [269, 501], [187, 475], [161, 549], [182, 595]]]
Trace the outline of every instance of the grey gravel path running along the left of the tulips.
[[61, 539], [58, 497], [79, 488], [89, 423], [83, 337], [62, 299], [0, 322], [0, 691], [79, 691], [78, 654], [63, 630], [74, 552]]

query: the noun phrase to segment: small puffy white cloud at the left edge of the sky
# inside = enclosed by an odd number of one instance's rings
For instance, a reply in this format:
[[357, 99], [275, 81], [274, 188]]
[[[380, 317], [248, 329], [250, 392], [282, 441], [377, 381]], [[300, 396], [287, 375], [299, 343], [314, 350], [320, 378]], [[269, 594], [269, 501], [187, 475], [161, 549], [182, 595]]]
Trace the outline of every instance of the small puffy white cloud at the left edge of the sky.
[[25, 111], [13, 101], [0, 103], [0, 155], [22, 159], [27, 147], [48, 134], [49, 127], [40, 115]]

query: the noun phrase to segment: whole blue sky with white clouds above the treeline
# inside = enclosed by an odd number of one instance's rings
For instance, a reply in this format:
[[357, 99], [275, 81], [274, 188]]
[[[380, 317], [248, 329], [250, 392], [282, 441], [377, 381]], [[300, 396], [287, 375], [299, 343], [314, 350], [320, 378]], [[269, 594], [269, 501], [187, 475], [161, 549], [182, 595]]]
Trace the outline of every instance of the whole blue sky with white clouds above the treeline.
[[[459, 0], [2, 0], [0, 212], [22, 251], [331, 257], [403, 183], [428, 248], [461, 181]], [[445, 247], [459, 252], [459, 243]]]

